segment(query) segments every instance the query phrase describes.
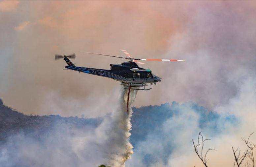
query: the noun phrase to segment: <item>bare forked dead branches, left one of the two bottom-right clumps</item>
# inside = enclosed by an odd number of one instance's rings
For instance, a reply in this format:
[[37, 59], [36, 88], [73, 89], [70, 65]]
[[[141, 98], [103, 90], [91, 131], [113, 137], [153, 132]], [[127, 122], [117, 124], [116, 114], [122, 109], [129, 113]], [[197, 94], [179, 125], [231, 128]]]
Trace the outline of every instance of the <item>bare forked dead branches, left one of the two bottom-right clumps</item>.
[[[199, 140], [200, 140], [200, 141], [199, 141]], [[214, 150], [214, 149], [209, 148], [209, 149], [206, 151], [205, 154], [203, 153], [203, 151], [204, 151], [204, 142], [207, 141], [207, 140], [210, 140], [210, 139], [207, 139], [207, 138], [204, 139], [201, 132], [199, 132], [199, 134], [198, 134], [198, 139], [197, 139], [197, 143], [198, 143], [198, 144], [197, 144], [197, 145], [195, 145], [195, 142], [194, 142], [194, 140], [192, 139], [195, 152], [196, 152], [197, 156], [200, 158], [200, 160], [203, 162], [203, 164], [205, 165], [205, 167], [208, 167], [208, 166], [207, 166], [207, 161], [208, 161], [208, 159], [206, 158], [208, 151]], [[197, 147], [200, 146], [200, 144], [202, 145], [201, 152], [199, 152], [198, 149], [197, 149]], [[216, 150], [215, 150], [215, 151], [216, 151]]]

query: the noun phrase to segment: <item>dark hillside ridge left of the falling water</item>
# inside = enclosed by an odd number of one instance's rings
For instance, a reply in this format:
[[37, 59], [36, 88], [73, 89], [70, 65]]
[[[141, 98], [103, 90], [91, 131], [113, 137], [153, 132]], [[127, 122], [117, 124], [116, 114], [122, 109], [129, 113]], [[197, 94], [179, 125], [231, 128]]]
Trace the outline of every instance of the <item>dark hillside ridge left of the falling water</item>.
[[8, 136], [23, 132], [25, 136], [41, 138], [56, 126], [68, 125], [69, 128], [79, 128], [84, 131], [97, 127], [102, 118], [61, 117], [59, 115], [24, 115], [11, 107], [3, 105], [0, 98], [0, 142]]

